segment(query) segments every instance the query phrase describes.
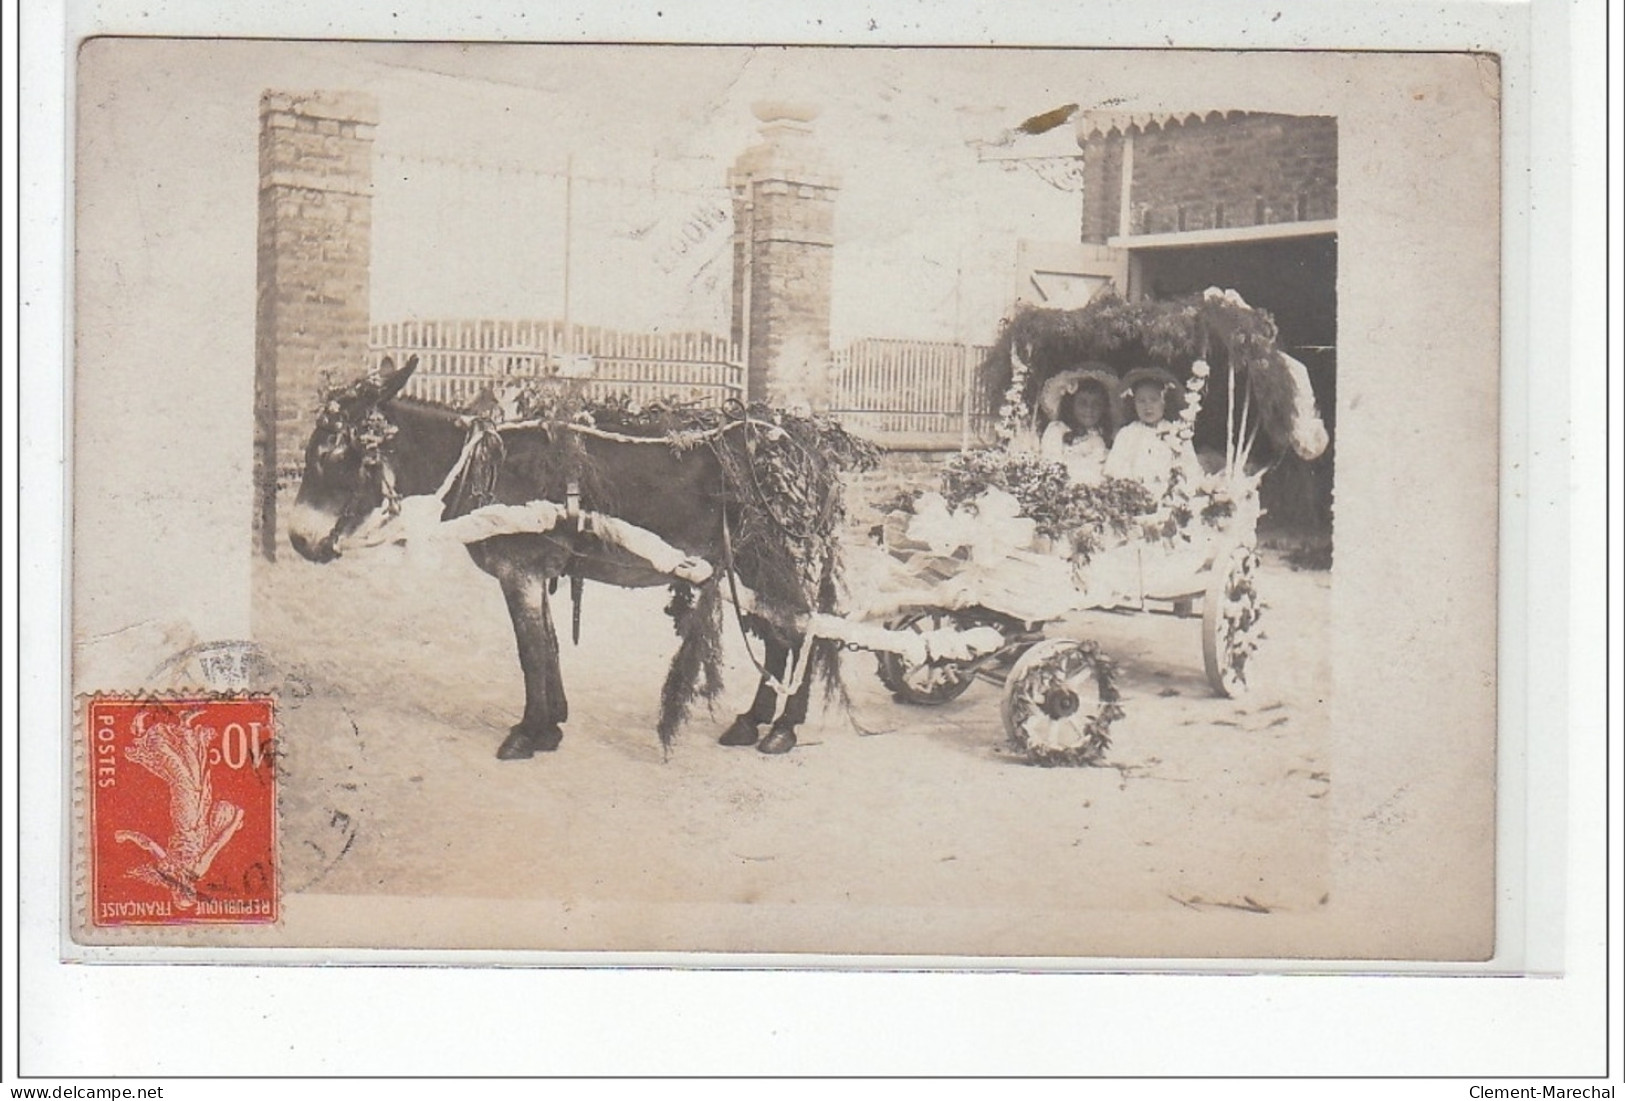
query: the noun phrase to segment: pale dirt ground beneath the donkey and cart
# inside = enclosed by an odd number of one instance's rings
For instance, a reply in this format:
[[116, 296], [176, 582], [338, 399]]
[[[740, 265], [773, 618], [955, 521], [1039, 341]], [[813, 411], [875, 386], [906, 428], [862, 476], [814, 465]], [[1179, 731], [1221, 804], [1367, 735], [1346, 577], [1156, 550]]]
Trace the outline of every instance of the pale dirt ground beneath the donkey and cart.
[[[556, 924], [523, 943], [492, 932], [505, 947], [1019, 955], [1087, 950], [1055, 935], [1069, 914], [1259, 921], [1326, 901], [1331, 575], [1274, 554], [1245, 700], [1207, 689], [1199, 617], [1082, 612], [1051, 630], [1120, 663], [1126, 715], [1098, 768], [1012, 758], [988, 684], [938, 708], [897, 703], [866, 653], [845, 656], [852, 713], [814, 706], [791, 753], [722, 747], [754, 687], [736, 632], [723, 706], [666, 757], [666, 591], [596, 585], [562, 654], [562, 747], [499, 762], [523, 685], [497, 585], [466, 557], [284, 554], [257, 570], [255, 640], [284, 679], [294, 896], [552, 906]], [[566, 633], [562, 589], [556, 601]], [[798, 932], [717, 918], [741, 903]], [[572, 926], [593, 906], [596, 930]], [[972, 913], [990, 918], [956, 921]], [[864, 914], [892, 932], [869, 935]]]

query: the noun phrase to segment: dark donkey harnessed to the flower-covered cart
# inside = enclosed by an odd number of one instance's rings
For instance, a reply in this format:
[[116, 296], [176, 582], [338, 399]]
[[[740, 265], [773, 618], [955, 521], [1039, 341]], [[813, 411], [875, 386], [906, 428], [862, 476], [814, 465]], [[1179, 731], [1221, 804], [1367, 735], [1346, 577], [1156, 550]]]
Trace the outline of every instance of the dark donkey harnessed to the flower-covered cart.
[[[720, 742], [756, 745], [762, 753], [790, 752], [808, 715], [814, 676], [826, 684], [837, 676], [838, 650], [824, 640], [809, 641], [798, 622], [834, 611], [838, 562], [834, 539], [798, 544], [793, 531], [769, 531], [777, 538], [764, 538], [764, 528], [774, 525], [752, 525], [751, 505], [741, 499], [738, 479], [728, 476], [730, 466], [752, 461], [762, 434], [777, 429], [736, 411], [707, 434], [708, 445], [678, 448], [663, 437], [632, 438], [557, 422], [500, 432], [488, 425], [484, 440], [499, 440], [499, 455], [468, 461], [479, 440], [466, 416], [401, 396], [416, 367], [416, 356], [400, 369], [385, 359], [380, 377], [325, 395], [289, 520], [294, 549], [312, 562], [330, 562], [348, 538], [396, 508], [403, 497], [440, 487], [444, 520], [486, 503], [548, 500], [569, 503], [572, 513], [578, 507], [635, 525], [720, 567], [697, 588], [679, 583], [668, 609], [681, 641], [661, 693], [661, 744], [670, 745], [696, 697], [710, 700], [720, 690], [720, 586], [728, 585], [730, 596], [743, 604], [743, 585], [756, 598], [749, 612], [741, 611], [741, 622], [762, 641], [760, 680], [751, 706], [734, 716]], [[803, 453], [812, 463], [814, 492], [829, 505], [826, 518], [838, 518], [838, 460], [814, 448]], [[826, 549], [822, 560], [806, 560], [809, 546]], [[580, 525], [491, 536], [468, 544], [468, 554], [502, 586], [525, 676], [525, 713], [497, 757], [518, 760], [556, 750], [569, 718], [548, 601], [557, 580], [642, 588], [673, 585], [673, 576]]]

